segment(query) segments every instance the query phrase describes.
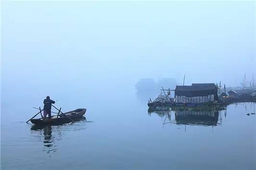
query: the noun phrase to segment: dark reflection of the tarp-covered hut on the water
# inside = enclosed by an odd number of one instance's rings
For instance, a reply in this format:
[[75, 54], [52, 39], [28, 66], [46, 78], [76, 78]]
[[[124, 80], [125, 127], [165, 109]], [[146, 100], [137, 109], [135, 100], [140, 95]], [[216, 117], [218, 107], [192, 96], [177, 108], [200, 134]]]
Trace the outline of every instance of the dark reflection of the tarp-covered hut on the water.
[[176, 111], [177, 125], [217, 125], [219, 112], [217, 111]]

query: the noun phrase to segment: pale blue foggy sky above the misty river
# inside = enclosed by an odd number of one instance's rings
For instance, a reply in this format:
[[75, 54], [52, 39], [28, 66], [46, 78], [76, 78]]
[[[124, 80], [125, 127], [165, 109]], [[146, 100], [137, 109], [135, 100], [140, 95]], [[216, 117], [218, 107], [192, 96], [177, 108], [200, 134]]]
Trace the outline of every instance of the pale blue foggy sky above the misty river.
[[[255, 2], [2, 2], [1, 90], [256, 77]], [[97, 84], [97, 86], [95, 86]], [[65, 85], [64, 85], [65, 86]], [[82, 88], [81, 85], [77, 85]]]

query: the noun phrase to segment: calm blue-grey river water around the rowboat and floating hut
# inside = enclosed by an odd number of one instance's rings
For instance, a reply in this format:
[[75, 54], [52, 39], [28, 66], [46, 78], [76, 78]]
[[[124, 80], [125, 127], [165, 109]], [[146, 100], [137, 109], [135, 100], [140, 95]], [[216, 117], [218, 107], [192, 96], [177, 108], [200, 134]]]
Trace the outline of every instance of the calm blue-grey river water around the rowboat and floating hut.
[[41, 128], [25, 121], [43, 97], [2, 102], [1, 169], [256, 169], [256, 115], [246, 115], [256, 112], [254, 103], [221, 112], [148, 113], [148, 94], [135, 90], [86, 95], [55, 104], [63, 111], [86, 107], [82, 121]]

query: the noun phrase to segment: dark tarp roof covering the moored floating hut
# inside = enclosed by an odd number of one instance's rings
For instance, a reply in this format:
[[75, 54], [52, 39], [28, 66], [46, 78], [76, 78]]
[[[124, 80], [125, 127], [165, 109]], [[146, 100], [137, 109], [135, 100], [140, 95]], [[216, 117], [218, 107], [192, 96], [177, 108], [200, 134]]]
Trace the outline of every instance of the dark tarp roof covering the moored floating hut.
[[192, 86], [176, 86], [175, 96], [196, 97], [213, 94], [214, 100], [219, 100], [217, 92], [218, 88], [214, 83], [193, 83]]

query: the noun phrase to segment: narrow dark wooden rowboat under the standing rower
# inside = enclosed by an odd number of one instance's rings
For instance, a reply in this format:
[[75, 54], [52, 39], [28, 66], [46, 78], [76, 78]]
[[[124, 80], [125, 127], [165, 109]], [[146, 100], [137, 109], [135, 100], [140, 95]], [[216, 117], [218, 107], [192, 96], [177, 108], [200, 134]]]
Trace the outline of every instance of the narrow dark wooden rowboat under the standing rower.
[[43, 120], [42, 118], [39, 119], [31, 119], [32, 124], [36, 125], [62, 125], [67, 124], [73, 121], [79, 121], [82, 116], [85, 114], [86, 109], [76, 109], [67, 113], [61, 113], [59, 114], [59, 117], [57, 118], [57, 115], [52, 116], [51, 119]]

